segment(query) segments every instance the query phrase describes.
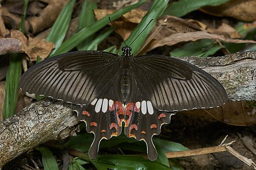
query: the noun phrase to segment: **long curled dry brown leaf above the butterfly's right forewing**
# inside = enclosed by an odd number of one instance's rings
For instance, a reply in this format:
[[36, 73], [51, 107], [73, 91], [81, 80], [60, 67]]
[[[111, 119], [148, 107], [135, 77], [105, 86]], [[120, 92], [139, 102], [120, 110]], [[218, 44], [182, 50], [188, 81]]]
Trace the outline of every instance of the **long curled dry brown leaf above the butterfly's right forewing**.
[[[157, 29], [156, 29], [157, 28]], [[140, 54], [164, 45], [175, 45], [180, 42], [196, 41], [200, 39], [212, 39], [218, 43], [220, 41], [233, 43], [256, 43], [251, 40], [229, 39], [229, 37], [240, 37], [238, 32], [229, 25], [222, 24], [215, 29], [197, 20], [185, 20], [175, 16], [163, 16], [158, 20], [158, 25], [151, 32], [154, 36], [149, 36], [143, 45]], [[155, 31], [158, 31], [156, 34]], [[167, 36], [168, 35], [168, 36]], [[225, 48], [225, 47], [223, 47]]]

